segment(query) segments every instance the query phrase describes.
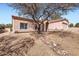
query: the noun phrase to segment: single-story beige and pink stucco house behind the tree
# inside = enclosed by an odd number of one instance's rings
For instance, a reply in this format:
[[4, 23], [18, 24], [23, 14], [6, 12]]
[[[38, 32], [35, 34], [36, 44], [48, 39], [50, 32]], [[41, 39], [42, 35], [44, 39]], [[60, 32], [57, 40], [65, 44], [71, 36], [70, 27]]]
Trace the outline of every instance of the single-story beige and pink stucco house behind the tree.
[[[48, 22], [47, 31], [54, 31], [54, 30], [67, 30], [69, 21], [65, 19], [58, 19], [58, 20], [49, 20], [44, 21], [44, 25], [40, 28], [43, 31], [46, 31], [46, 23]], [[27, 31], [37, 31], [36, 23], [32, 19], [26, 19], [23, 17], [12, 16], [12, 25], [13, 25], [13, 32], [27, 32]]]

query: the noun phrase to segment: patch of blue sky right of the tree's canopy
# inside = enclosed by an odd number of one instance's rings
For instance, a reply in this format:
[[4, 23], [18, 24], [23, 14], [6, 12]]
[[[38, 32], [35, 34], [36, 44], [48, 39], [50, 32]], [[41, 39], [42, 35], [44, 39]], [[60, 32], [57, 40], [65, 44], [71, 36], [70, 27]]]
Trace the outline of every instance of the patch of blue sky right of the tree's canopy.
[[63, 17], [67, 18], [70, 23], [79, 23], [79, 9], [69, 12], [67, 15], [63, 15]]

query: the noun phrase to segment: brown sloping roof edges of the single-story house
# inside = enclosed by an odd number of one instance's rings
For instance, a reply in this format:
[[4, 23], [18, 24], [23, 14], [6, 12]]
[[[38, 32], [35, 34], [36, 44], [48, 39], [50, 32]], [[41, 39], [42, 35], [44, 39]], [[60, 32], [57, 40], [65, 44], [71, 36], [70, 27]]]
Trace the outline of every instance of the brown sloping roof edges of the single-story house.
[[[24, 20], [24, 21], [34, 22], [34, 20], [32, 20], [32, 19], [26, 19], [26, 18], [19, 17], [19, 16], [12, 16], [12, 19], [14, 19], [14, 20]], [[56, 23], [56, 22], [61, 22], [61, 21], [67, 21], [67, 23], [69, 23], [69, 21], [66, 20], [66, 19], [49, 20], [48, 22], [49, 23]]]

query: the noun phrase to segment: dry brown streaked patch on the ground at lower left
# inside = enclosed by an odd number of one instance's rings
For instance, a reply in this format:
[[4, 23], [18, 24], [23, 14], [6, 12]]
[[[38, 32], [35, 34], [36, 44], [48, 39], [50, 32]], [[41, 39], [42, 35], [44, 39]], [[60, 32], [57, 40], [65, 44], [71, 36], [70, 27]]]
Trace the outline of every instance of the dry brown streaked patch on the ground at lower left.
[[21, 35], [7, 35], [0, 38], [0, 55], [22, 56], [27, 55], [27, 51], [34, 45], [31, 37]]

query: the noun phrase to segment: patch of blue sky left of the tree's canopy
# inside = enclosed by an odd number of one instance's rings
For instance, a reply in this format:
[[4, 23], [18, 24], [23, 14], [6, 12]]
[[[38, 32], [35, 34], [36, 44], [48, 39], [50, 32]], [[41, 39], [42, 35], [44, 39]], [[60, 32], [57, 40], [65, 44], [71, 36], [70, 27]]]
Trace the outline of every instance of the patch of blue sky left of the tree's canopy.
[[13, 8], [7, 4], [0, 4], [0, 24], [12, 23], [12, 15], [17, 15]]

